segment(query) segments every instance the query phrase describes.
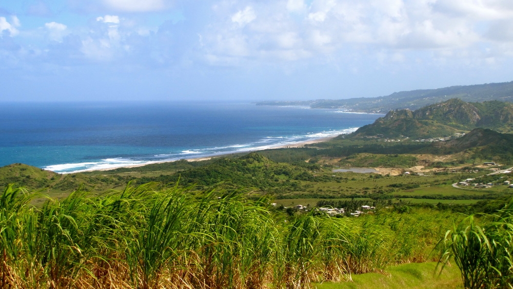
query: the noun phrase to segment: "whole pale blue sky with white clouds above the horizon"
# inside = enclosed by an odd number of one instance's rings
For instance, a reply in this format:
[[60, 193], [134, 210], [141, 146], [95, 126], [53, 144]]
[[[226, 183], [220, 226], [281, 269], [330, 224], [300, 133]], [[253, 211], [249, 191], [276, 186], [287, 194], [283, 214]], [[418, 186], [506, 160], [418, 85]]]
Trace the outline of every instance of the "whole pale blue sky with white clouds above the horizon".
[[0, 101], [378, 97], [511, 67], [511, 0], [0, 0]]

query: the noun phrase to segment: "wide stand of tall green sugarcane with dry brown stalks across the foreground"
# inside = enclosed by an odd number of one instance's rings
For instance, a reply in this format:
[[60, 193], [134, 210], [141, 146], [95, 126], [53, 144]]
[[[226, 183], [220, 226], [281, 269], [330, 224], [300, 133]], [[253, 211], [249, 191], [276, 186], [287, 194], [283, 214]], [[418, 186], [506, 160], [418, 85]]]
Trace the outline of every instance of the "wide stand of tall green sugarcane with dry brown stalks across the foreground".
[[267, 197], [159, 187], [77, 190], [37, 208], [28, 205], [31, 194], [8, 186], [0, 198], [0, 287], [308, 288], [424, 260], [443, 218], [406, 230], [418, 223], [414, 215], [289, 217]]

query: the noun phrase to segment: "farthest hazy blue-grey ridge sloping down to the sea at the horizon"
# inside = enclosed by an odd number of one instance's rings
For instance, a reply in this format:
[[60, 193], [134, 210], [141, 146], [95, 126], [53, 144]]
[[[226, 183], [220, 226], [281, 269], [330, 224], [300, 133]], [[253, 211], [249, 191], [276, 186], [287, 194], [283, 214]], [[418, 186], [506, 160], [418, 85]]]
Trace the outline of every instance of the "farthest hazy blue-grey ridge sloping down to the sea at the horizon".
[[394, 92], [377, 98], [345, 100], [266, 101], [257, 105], [300, 105], [311, 108], [338, 108], [357, 112], [387, 113], [394, 109], [416, 110], [426, 105], [458, 98], [465, 102], [513, 102], [513, 82], [450, 86], [438, 89], [419, 89]]

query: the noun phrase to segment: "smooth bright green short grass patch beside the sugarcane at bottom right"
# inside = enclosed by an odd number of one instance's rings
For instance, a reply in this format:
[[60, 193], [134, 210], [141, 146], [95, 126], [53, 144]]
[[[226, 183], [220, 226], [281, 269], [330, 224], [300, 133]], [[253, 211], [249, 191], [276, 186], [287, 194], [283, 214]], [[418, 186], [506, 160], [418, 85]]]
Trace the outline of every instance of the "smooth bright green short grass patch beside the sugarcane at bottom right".
[[457, 266], [446, 267], [439, 276], [435, 273], [436, 262], [409, 263], [390, 266], [385, 274], [366, 273], [352, 275], [352, 281], [325, 282], [315, 284], [317, 289], [358, 288], [447, 288], [463, 289], [460, 270]]

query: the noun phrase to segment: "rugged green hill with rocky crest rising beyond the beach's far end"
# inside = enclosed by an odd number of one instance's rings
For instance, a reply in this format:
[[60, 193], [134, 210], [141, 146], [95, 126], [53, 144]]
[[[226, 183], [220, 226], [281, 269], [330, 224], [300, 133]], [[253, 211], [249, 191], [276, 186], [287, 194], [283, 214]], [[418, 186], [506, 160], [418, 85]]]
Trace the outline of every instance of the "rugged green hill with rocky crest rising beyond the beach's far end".
[[352, 137], [427, 139], [449, 137], [475, 128], [513, 131], [513, 104], [500, 101], [467, 103], [451, 99], [415, 111], [397, 109], [365, 125]]

